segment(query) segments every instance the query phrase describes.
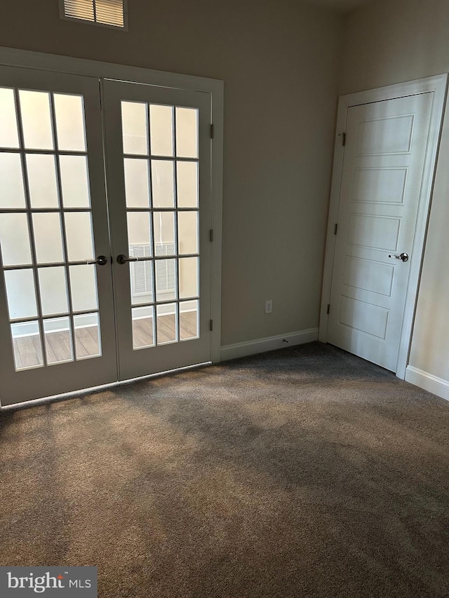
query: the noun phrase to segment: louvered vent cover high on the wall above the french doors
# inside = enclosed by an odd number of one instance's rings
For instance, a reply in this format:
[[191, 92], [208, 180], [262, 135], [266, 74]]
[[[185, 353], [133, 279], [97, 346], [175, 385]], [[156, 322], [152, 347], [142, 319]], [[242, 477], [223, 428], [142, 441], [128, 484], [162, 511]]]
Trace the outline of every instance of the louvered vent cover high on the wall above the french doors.
[[60, 0], [61, 17], [127, 28], [127, 0]]

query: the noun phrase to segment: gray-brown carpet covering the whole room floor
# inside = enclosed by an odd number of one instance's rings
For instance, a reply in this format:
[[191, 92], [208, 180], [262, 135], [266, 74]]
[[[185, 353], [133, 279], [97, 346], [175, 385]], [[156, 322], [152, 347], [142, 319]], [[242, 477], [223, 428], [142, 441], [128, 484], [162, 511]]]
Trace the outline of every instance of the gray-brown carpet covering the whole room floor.
[[104, 598], [449, 596], [449, 403], [313, 343], [0, 415], [0, 564]]

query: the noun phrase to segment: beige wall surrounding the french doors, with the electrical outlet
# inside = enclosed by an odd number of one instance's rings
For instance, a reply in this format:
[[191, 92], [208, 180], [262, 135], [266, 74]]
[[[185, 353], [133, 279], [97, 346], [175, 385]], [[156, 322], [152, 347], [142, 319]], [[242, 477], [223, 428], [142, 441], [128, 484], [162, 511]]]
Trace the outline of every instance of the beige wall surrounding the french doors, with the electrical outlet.
[[0, 8], [0, 46], [225, 81], [222, 344], [319, 324], [340, 30], [295, 0], [130, 0], [129, 32]]

